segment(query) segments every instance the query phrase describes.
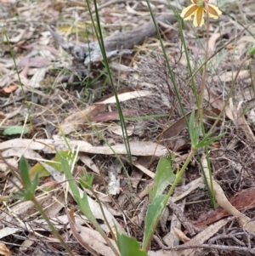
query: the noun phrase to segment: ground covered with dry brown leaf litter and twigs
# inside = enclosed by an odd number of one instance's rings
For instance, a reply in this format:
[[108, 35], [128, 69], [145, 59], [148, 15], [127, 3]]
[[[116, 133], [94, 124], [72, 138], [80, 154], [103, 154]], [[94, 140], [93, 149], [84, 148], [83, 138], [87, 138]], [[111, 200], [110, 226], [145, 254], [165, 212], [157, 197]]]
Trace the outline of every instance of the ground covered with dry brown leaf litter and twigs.
[[[167, 1], [150, 2], [156, 16], [173, 13]], [[150, 21], [145, 2], [98, 3], [104, 37], [116, 31], [131, 31]], [[190, 4], [170, 3], [178, 13]], [[210, 20], [209, 25], [209, 57], [212, 56], [212, 59], [207, 65], [204, 96], [207, 131], [224, 107], [224, 100], [247, 54], [249, 43], [255, 43], [255, 4], [252, 1], [218, 1], [218, 6], [226, 13], [219, 20]], [[174, 168], [178, 170], [190, 151], [190, 137], [158, 37], [144, 38], [142, 45], [134, 47], [133, 54], [109, 60], [113, 81], [122, 99], [123, 115], [127, 118], [134, 164], [131, 168], [125, 154], [115, 98], [111, 98], [111, 82], [104, 65], [94, 63], [87, 70], [87, 67], [77, 64], [48, 31], [47, 26], [54, 26], [66, 42], [95, 42], [87, 4], [60, 0], [0, 0], [0, 23], [3, 36], [0, 47], [1, 156], [15, 170], [20, 156], [25, 155], [30, 164], [31, 177], [35, 173], [40, 174], [37, 201], [73, 253], [91, 255], [72, 235], [65, 207], [76, 209], [76, 223], [83, 239], [99, 255], [113, 255], [109, 248], [105, 248], [104, 242], [100, 242], [99, 234], [93, 232], [93, 226], [78, 210], [72, 196], [66, 196], [68, 188], [61, 183], [65, 177], [59, 178], [62, 174], [59, 165], [45, 162], [58, 162], [50, 146], [67, 150], [62, 139], [65, 134], [71, 148], [78, 146], [79, 149], [74, 174], [81, 174], [82, 168], [94, 173], [94, 190], [98, 192], [108, 218], [114, 219], [120, 229], [142, 242], [148, 186], [153, 180], [159, 158], [174, 152]], [[195, 73], [205, 60], [205, 26], [195, 29], [191, 22], [185, 22], [183, 29], [192, 73]], [[191, 82], [187, 84], [190, 72], [177, 23], [161, 24], [161, 37], [184, 111], [189, 115], [197, 107]], [[201, 73], [198, 71], [194, 77], [198, 90]], [[161, 218], [151, 243], [151, 255], [254, 255], [254, 79], [254, 59], [246, 60], [235, 82], [230, 103], [212, 131], [214, 135], [224, 132], [226, 135], [209, 146], [213, 178], [223, 190], [220, 196], [225, 195], [244, 215], [236, 215], [219, 206], [224, 207], [226, 202], [224, 206], [218, 202], [217, 210], [212, 211], [197, 156], [190, 162], [181, 185], [175, 190], [173, 202], [177, 205], [170, 204]], [[110, 103], [95, 104], [109, 98], [113, 99]], [[14, 131], [6, 130], [9, 127]], [[127, 173], [113, 156], [109, 145], [122, 159]], [[0, 254], [66, 255], [33, 204], [15, 196], [20, 184], [10, 170], [10, 166], [2, 161]], [[48, 187], [54, 189], [46, 190]], [[94, 200], [93, 195], [89, 196]], [[94, 205], [93, 213], [105, 232], [109, 232], [98, 204]], [[245, 219], [245, 225], [241, 225], [241, 218]], [[183, 233], [178, 235], [174, 228]], [[189, 242], [186, 242], [187, 237]], [[195, 248], [191, 251], [169, 250], [169, 247], [176, 247], [184, 241], [188, 248], [199, 244], [204, 247], [196, 251]]]

